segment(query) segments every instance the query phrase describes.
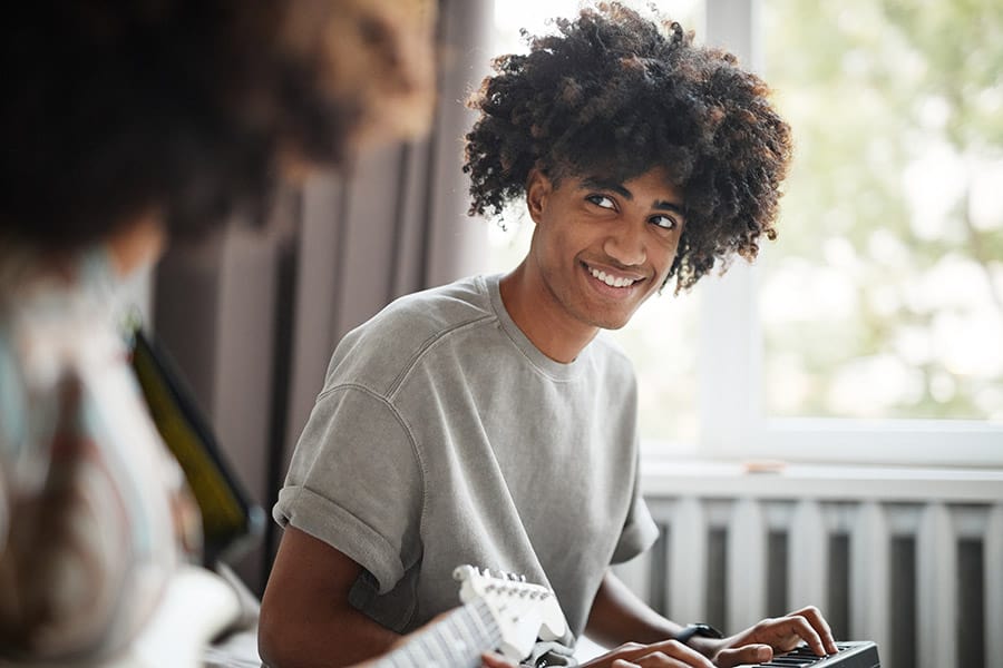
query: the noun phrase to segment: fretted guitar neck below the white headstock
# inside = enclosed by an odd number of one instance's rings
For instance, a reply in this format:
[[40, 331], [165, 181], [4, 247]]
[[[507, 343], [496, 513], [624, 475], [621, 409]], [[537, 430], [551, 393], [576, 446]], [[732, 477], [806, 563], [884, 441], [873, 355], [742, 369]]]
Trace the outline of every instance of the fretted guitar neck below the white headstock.
[[476, 668], [498, 646], [501, 630], [487, 603], [461, 606], [379, 658], [373, 668]]

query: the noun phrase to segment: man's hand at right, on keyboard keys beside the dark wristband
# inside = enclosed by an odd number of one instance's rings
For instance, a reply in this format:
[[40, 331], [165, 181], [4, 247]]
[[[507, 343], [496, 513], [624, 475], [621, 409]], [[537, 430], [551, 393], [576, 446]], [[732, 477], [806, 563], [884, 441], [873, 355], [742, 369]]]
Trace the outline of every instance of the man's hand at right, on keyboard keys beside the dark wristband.
[[731, 668], [740, 664], [769, 661], [773, 658], [773, 652], [790, 651], [802, 640], [818, 656], [838, 651], [828, 622], [815, 606], [801, 608], [785, 617], [763, 619], [723, 640], [693, 638], [690, 644], [711, 657], [719, 668]]

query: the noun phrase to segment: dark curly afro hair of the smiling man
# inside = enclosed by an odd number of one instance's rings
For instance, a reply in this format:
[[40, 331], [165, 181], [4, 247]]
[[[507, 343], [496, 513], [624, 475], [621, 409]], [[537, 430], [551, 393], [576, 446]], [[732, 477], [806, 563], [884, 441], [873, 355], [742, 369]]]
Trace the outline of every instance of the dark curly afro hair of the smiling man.
[[480, 112], [464, 166], [470, 215], [501, 214], [534, 168], [558, 183], [623, 183], [662, 167], [686, 208], [666, 283], [675, 276], [679, 292], [734, 254], [753, 259], [761, 235], [776, 238], [791, 154], [767, 85], [679, 23], [619, 3], [555, 24], [557, 33], [528, 38], [528, 55], [496, 58], [468, 101]]

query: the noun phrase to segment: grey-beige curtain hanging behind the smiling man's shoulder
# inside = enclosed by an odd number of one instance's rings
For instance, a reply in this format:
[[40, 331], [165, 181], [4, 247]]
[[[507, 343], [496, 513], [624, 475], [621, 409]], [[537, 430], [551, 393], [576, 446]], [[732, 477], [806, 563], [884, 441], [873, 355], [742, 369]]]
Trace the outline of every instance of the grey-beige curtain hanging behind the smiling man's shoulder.
[[[271, 512], [342, 335], [395, 297], [481, 271], [486, 223], [466, 216], [461, 101], [488, 71], [490, 0], [442, 0], [436, 118], [426, 140], [366, 154], [283, 194], [265, 232], [173, 248], [153, 327], [205, 409], [240, 481]], [[277, 529], [234, 566], [259, 593]]]

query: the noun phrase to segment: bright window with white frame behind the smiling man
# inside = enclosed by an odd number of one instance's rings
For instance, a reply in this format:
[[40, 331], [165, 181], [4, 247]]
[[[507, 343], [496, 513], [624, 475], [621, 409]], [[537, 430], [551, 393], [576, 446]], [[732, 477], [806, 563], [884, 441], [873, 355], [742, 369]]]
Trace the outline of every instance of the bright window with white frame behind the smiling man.
[[[660, 3], [765, 71], [796, 157], [754, 267], [615, 333], [646, 450], [1003, 463], [1003, 16], [978, 6]], [[496, 51], [577, 7], [498, 2]], [[499, 271], [525, 248], [512, 227], [494, 233]]]

